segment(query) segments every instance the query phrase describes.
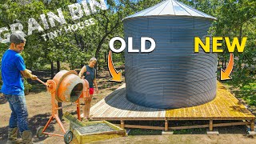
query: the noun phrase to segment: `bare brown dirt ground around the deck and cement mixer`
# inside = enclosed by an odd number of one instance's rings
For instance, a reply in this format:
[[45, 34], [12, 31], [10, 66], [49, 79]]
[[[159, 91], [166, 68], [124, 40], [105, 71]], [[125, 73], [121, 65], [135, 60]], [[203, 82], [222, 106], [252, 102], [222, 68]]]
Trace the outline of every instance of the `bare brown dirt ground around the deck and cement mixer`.
[[[109, 82], [110, 74], [108, 71], [104, 71], [99, 74], [98, 77], [98, 88], [100, 94], [94, 94], [92, 100], [93, 106], [95, 103], [100, 101], [102, 98], [105, 98], [112, 91], [116, 90], [118, 86], [121, 86], [122, 83], [118, 82]], [[41, 85], [38, 84], [40, 87]], [[29, 113], [29, 128], [32, 130], [34, 135], [33, 142], [36, 143], [64, 143], [63, 138], [46, 136], [43, 139], [38, 139], [36, 137], [36, 130], [38, 126], [45, 126], [46, 122], [50, 118], [51, 105], [50, 105], [50, 93], [43, 89], [41, 86], [40, 90], [32, 90], [30, 94], [26, 95], [26, 104]], [[68, 103], [63, 103], [67, 105]], [[69, 111], [71, 114], [75, 114], [76, 107], [71, 106], [63, 110], [65, 113]], [[7, 130], [8, 123], [10, 118], [10, 107], [8, 102], [0, 94], [0, 143], [6, 143], [7, 140]], [[66, 130], [69, 129], [69, 123], [62, 121]], [[62, 134], [60, 127], [54, 121], [51, 122], [50, 126], [47, 128], [47, 131], [51, 133]], [[229, 128], [223, 128], [220, 135], [206, 135], [205, 132], [202, 134], [189, 133], [189, 134], [174, 134], [174, 135], [161, 135], [161, 132], [158, 134], [147, 135], [141, 134], [131, 134], [128, 137], [123, 138], [113, 138], [107, 141], [100, 141], [94, 143], [256, 143], [256, 139], [253, 137], [248, 137], [246, 135], [245, 126], [233, 126]], [[75, 143], [75, 142], [74, 142]]]

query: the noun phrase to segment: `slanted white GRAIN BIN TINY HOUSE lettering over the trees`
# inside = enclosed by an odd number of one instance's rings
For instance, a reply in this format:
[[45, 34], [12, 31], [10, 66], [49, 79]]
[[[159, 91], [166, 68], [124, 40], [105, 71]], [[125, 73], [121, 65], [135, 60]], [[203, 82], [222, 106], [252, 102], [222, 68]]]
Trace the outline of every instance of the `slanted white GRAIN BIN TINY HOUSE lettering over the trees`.
[[[83, 0], [80, 3], [74, 3], [68, 6], [70, 16], [72, 20], [78, 20], [84, 16], [89, 16], [90, 14], [94, 14], [97, 10], [96, 7], [106, 10], [106, 3], [104, 0]], [[52, 30], [56, 25], [62, 26], [59, 30], [53, 30], [52, 32], [42, 34], [42, 38], [46, 41], [47, 39], [56, 38], [59, 35], [64, 33], [70, 33], [72, 31], [83, 29], [86, 26], [93, 25], [94, 22], [90, 19], [84, 22], [78, 22], [71, 26], [67, 26], [67, 21], [62, 13], [62, 8], [57, 9], [58, 14], [54, 14], [54, 12], [47, 12], [46, 14], [40, 14], [40, 18], [29, 18], [27, 20], [27, 30], [24, 30], [24, 23], [15, 22], [10, 24], [10, 30], [8, 26], [0, 27], [0, 42], [6, 43], [9, 42], [9, 37], [11, 33], [15, 31], [21, 32], [25, 36], [29, 36], [33, 34], [35, 31], [39, 33], [44, 33], [45, 31]], [[58, 23], [57, 23], [58, 22]], [[3, 37], [2, 37], [3, 36]]]

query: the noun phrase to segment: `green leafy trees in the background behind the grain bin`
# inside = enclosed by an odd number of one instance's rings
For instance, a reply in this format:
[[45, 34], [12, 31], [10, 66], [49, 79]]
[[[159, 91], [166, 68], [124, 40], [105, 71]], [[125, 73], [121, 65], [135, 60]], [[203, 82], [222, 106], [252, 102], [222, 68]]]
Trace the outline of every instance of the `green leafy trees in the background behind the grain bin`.
[[[238, 37], [247, 37], [246, 48], [243, 53], [234, 52], [235, 66], [232, 75], [234, 86], [240, 88], [255, 82], [256, 65], [256, 2], [253, 0], [180, 0], [181, 2], [201, 10], [206, 14], [213, 15], [218, 20], [213, 22], [210, 34], [213, 36], [226, 36], [232, 40]], [[98, 58], [98, 67], [106, 66], [106, 56], [109, 51], [108, 42], [116, 36], [123, 37], [122, 19], [130, 14], [145, 10], [154, 6], [162, 0], [106, 0], [107, 10], [97, 9], [91, 15], [84, 15], [82, 18], [73, 20], [70, 16], [68, 5], [75, 0], [5, 0], [0, 1], [0, 28], [15, 22], [23, 24], [23, 30], [27, 34], [27, 20], [35, 18], [39, 24], [40, 14], [48, 12], [57, 13], [58, 8], [66, 19], [66, 26], [86, 19], [94, 18], [95, 24], [86, 26], [84, 29], [75, 30], [72, 33], [58, 35], [57, 38], [44, 41], [42, 32], [34, 30], [34, 33], [27, 36], [26, 48], [23, 57], [26, 66], [33, 70], [42, 69], [42, 66], [51, 62], [67, 62], [70, 69], [81, 68], [91, 57]], [[48, 33], [62, 28], [58, 22], [53, 29], [45, 30]], [[3, 34], [1, 34], [3, 36]], [[0, 44], [0, 56], [7, 49], [7, 44]], [[226, 46], [222, 45], [226, 52], [218, 54], [222, 61], [222, 67], [228, 61], [229, 53]], [[124, 62], [124, 54], [114, 54], [118, 62]], [[254, 92], [255, 95], [255, 92]]]

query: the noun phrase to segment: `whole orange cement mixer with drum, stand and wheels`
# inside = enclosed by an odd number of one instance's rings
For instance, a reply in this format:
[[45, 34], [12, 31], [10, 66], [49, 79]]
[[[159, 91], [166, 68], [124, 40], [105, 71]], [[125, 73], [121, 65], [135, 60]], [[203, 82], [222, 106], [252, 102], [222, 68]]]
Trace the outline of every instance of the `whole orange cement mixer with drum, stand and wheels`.
[[[74, 70], [61, 70], [54, 76], [52, 80], [48, 80], [47, 82], [42, 82], [38, 79], [38, 82], [41, 82], [46, 86], [47, 90], [51, 94], [51, 116], [46, 126], [40, 126], [37, 130], [37, 137], [44, 138], [46, 134], [54, 135], [59, 137], [64, 137], [64, 142], [69, 143], [72, 141], [73, 134], [70, 130], [66, 131], [62, 125], [60, 118], [58, 117], [57, 111], [63, 109], [67, 106], [77, 106], [77, 114], [78, 120], [80, 118], [80, 103], [79, 98], [86, 98], [89, 96], [89, 83], [85, 79], [81, 79], [78, 77], [78, 73]], [[57, 102], [71, 102], [70, 105], [58, 107]], [[58, 125], [61, 127], [62, 134], [53, 134], [47, 133], [46, 128], [49, 126], [50, 122], [53, 119], [56, 119]]]

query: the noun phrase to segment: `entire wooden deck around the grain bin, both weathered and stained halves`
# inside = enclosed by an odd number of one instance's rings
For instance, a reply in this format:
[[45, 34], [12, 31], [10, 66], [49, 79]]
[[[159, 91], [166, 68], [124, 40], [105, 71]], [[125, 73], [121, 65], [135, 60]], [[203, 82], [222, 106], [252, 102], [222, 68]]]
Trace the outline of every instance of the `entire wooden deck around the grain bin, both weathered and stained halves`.
[[[94, 120], [120, 120], [122, 127], [134, 127], [157, 130], [177, 130], [189, 128], [214, 126], [249, 125], [254, 130], [254, 114], [243, 106], [234, 95], [218, 82], [216, 98], [213, 101], [200, 106], [164, 110], [135, 105], [126, 99], [125, 84], [120, 86], [112, 94], [106, 96], [90, 109], [90, 115]], [[157, 126], [131, 126], [124, 121], [132, 120], [162, 120], [165, 127]], [[209, 120], [209, 124], [201, 126], [168, 127], [168, 121], [172, 120]], [[218, 123], [215, 120], [241, 120], [241, 122]]]

